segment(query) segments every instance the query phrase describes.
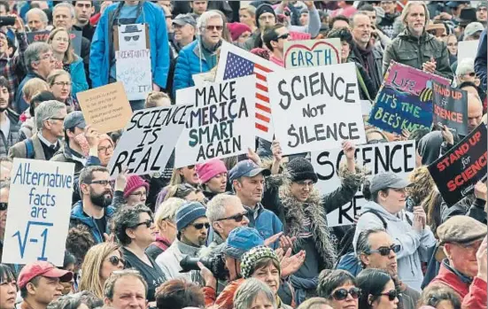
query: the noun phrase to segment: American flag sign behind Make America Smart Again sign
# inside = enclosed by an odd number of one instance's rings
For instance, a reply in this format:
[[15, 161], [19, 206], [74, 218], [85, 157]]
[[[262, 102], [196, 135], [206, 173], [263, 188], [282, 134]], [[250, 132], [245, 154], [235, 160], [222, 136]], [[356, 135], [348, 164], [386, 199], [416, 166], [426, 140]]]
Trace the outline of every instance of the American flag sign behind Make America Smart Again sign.
[[273, 142], [274, 128], [271, 117], [271, 105], [267, 91], [267, 75], [272, 72], [284, 72], [284, 67], [275, 65], [243, 50], [229, 42], [222, 42], [221, 58], [215, 75], [215, 82], [226, 81], [251, 74], [256, 75], [256, 136]]

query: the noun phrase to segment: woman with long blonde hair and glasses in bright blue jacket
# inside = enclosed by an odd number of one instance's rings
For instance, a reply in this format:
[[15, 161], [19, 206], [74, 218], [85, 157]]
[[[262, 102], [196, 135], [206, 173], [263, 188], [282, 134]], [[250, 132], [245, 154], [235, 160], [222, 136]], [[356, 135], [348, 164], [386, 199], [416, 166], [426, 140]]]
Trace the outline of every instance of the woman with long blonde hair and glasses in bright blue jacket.
[[72, 96], [75, 98], [78, 92], [88, 89], [83, 59], [74, 53], [70, 35], [64, 27], [57, 27], [52, 30], [48, 43], [52, 47], [54, 58], [56, 58], [55, 67], [63, 69], [71, 75], [73, 81]]

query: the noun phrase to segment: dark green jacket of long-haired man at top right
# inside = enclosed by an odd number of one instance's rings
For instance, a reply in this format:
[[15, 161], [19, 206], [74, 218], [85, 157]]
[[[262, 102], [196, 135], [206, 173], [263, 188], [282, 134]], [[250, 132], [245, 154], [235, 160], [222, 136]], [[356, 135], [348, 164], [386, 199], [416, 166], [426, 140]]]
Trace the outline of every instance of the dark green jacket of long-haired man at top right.
[[453, 80], [445, 42], [440, 42], [434, 35], [425, 32], [417, 38], [405, 29], [386, 48], [383, 55], [383, 72], [386, 72], [391, 60], [422, 70], [422, 64], [430, 61], [430, 58], [436, 59], [437, 75]]

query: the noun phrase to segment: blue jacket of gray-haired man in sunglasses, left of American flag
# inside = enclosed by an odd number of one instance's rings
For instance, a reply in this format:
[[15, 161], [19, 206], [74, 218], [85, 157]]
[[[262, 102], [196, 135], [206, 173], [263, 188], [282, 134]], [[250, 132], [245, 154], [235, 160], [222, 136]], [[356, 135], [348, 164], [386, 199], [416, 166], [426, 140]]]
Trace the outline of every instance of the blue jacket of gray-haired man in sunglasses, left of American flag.
[[174, 69], [173, 91], [195, 86], [191, 76], [193, 74], [205, 73], [212, 69], [205, 61], [203, 53], [200, 52], [199, 40], [195, 40], [183, 47], [176, 59]]

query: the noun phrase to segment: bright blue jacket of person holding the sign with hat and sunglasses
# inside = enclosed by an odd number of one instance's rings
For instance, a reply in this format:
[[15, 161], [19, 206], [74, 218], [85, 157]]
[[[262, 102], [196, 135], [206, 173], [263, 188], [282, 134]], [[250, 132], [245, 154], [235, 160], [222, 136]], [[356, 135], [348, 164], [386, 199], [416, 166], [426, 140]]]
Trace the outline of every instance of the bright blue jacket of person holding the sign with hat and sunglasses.
[[[98, 20], [97, 29], [91, 41], [89, 77], [93, 88], [105, 86], [109, 81], [111, 46], [113, 48], [109, 16], [112, 17], [117, 5], [119, 4], [112, 4], [105, 9]], [[149, 25], [152, 81], [159, 87], [165, 88], [169, 70], [169, 43], [165, 13], [158, 5], [146, 1], [143, 3], [143, 12], [136, 19], [136, 23]]]

